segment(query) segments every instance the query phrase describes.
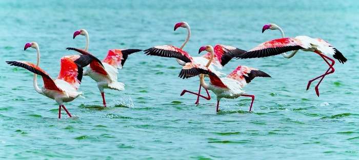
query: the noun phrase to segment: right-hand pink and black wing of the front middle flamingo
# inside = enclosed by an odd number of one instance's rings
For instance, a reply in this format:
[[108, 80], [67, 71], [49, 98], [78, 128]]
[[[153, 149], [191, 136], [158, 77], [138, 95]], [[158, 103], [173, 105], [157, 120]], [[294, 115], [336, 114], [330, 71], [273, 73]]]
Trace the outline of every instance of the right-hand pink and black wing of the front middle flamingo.
[[235, 81], [241, 82], [241, 87], [250, 83], [254, 77], [271, 77], [267, 73], [260, 71], [255, 68], [250, 68], [247, 66], [238, 66], [230, 74], [227, 75], [227, 78], [234, 79]]

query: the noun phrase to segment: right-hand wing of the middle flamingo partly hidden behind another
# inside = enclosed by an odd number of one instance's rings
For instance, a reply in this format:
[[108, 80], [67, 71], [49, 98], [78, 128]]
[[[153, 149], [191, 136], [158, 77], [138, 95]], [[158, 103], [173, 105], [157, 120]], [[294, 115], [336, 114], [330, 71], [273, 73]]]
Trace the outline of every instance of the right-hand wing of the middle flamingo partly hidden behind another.
[[246, 52], [245, 50], [225, 45], [215, 45], [213, 49], [222, 66], [225, 66], [233, 57], [239, 57]]

